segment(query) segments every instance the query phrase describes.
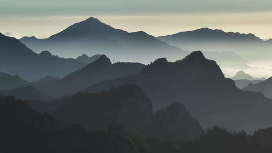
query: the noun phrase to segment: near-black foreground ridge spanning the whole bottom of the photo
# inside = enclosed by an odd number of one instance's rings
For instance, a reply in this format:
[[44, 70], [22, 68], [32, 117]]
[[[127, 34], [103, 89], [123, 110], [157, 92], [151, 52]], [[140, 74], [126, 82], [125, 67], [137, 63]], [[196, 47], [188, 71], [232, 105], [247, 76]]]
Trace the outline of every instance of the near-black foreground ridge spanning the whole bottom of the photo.
[[190, 141], [145, 137], [121, 125], [111, 125], [107, 130], [86, 129], [58, 121], [49, 114], [32, 110], [28, 101], [14, 97], [0, 98], [0, 120], [2, 152], [266, 153], [272, 150], [272, 128], [247, 134], [215, 126]]

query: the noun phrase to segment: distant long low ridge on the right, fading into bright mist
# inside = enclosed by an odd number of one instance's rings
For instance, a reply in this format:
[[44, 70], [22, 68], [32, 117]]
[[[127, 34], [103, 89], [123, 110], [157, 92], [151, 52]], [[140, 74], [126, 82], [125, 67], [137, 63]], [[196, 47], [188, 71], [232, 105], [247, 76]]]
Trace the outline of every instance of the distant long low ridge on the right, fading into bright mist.
[[[268, 60], [272, 57], [271, 45], [254, 34], [224, 32], [201, 28], [193, 31], [179, 32], [173, 35], [158, 37], [159, 40], [185, 50], [203, 52], [234, 52], [248, 60]], [[256, 52], [258, 50], [258, 52]]]

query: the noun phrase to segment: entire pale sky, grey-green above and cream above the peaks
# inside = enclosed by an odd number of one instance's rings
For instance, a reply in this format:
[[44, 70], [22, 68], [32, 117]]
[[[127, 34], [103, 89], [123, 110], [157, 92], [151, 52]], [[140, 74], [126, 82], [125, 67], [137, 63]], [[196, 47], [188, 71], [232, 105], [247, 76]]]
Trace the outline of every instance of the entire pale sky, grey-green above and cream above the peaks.
[[46, 38], [89, 17], [163, 36], [202, 27], [272, 38], [270, 0], [0, 0], [0, 32]]

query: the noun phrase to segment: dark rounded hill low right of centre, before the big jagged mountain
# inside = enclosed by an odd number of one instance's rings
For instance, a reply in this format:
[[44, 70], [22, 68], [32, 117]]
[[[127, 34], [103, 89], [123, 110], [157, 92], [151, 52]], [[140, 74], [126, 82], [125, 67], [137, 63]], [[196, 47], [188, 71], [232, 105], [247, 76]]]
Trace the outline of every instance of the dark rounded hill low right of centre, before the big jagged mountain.
[[195, 118], [192, 118], [181, 103], [174, 103], [157, 111], [145, 126], [145, 134], [150, 137], [182, 137], [192, 139], [203, 134]]

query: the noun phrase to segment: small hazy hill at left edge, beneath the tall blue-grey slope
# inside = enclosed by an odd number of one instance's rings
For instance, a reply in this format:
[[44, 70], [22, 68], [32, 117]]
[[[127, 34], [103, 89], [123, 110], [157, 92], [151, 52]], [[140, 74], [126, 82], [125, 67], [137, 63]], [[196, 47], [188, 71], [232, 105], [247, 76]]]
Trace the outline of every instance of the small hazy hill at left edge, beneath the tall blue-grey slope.
[[0, 90], [11, 90], [29, 85], [29, 82], [17, 75], [0, 72]]

